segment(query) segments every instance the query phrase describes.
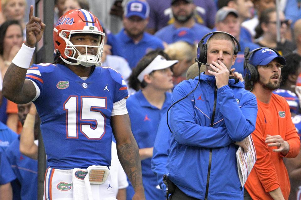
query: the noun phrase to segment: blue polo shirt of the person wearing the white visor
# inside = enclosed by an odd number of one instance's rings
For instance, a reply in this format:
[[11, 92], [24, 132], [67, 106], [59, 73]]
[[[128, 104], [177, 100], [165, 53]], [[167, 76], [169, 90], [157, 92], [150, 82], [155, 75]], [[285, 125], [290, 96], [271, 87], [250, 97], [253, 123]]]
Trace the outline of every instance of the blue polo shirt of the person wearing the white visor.
[[[153, 147], [156, 133], [161, 117], [166, 113], [171, 104], [171, 93], [165, 93], [165, 102], [162, 109], [151, 105], [142, 91], [139, 90], [126, 100], [126, 108], [129, 112], [133, 135], [139, 149]], [[146, 200], [164, 200], [164, 192], [160, 189], [156, 176], [151, 170], [151, 158], [141, 161], [142, 181], [145, 190]], [[127, 199], [132, 199], [134, 190], [129, 182], [127, 187]]]

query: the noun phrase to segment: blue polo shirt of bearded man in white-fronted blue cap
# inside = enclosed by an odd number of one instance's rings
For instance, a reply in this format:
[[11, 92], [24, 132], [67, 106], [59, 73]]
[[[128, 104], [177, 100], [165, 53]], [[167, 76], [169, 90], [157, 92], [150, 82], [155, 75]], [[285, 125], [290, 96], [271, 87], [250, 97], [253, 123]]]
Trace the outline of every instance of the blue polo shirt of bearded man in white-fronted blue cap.
[[149, 33], [143, 33], [142, 39], [138, 43], [134, 41], [125, 33], [124, 28], [117, 33], [116, 41], [119, 42], [120, 56], [125, 58], [129, 63], [131, 69], [136, 67], [138, 61], [151, 50], [164, 49], [163, 42], [156, 36]]

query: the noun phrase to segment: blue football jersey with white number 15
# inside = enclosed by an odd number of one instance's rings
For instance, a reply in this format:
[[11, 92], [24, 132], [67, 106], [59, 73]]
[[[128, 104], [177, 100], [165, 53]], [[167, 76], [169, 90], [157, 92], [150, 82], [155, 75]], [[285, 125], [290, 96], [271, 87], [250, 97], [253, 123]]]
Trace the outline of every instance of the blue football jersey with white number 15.
[[121, 74], [95, 67], [83, 80], [65, 65], [39, 64], [27, 71], [26, 78], [40, 89], [34, 103], [49, 166], [110, 166], [113, 103], [128, 96]]

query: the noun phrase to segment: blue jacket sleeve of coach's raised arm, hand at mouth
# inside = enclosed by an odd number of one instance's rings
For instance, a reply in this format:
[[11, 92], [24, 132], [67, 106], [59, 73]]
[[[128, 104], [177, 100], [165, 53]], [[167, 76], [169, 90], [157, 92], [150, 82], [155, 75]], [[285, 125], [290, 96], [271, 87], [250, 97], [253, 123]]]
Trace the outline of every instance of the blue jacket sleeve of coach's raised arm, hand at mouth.
[[245, 91], [240, 100], [235, 100], [233, 90], [225, 85], [218, 89], [218, 104], [232, 140], [242, 141], [255, 130], [257, 118], [255, 95]]

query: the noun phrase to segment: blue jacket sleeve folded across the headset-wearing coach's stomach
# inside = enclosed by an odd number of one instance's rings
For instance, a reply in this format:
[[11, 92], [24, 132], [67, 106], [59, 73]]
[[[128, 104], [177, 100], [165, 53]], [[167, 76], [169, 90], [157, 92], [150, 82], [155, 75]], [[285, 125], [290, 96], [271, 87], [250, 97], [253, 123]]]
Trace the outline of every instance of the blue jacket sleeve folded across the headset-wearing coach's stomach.
[[[181, 99], [191, 88], [184, 82], [178, 84], [172, 93], [172, 102]], [[214, 92], [212, 90], [212, 92]], [[228, 146], [234, 141], [229, 137], [226, 127], [213, 128], [197, 124], [194, 113], [193, 94], [176, 103], [169, 111], [170, 127], [175, 140], [182, 145], [216, 148]]]

